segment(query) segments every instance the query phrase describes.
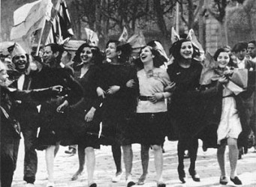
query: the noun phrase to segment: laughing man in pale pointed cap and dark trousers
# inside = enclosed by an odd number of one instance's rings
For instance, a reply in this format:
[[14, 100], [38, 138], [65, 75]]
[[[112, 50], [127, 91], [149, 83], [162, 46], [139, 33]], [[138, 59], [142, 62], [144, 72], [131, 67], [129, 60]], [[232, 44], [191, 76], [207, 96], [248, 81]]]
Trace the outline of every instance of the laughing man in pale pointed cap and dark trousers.
[[[20, 91], [31, 89], [32, 72], [29, 67], [29, 55], [18, 44], [14, 44], [14, 50], [11, 52], [12, 61], [19, 76], [14, 79], [12, 86], [18, 88]], [[24, 157], [24, 176], [26, 186], [34, 186], [35, 174], [38, 169], [38, 156], [35, 151], [35, 144], [37, 141], [37, 118], [38, 109], [35, 102], [22, 102], [17, 100], [15, 102], [14, 114], [20, 122], [21, 132], [23, 132], [25, 157]]]

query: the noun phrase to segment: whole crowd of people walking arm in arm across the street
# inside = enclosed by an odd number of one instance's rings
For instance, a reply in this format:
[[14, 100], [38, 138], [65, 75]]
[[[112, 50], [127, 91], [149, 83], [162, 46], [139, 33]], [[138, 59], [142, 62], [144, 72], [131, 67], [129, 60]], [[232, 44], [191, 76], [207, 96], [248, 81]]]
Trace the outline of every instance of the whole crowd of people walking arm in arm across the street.
[[[95, 149], [109, 145], [116, 165], [113, 183], [125, 174], [125, 186], [143, 185], [151, 148], [156, 186], [164, 187], [165, 137], [178, 141], [177, 171], [182, 183], [186, 183], [185, 150], [190, 158], [188, 172], [200, 182], [196, 159], [201, 139], [203, 150], [217, 149], [219, 183], [226, 185], [229, 176], [235, 185], [242, 185], [237, 160], [248, 148], [256, 150], [256, 41], [224, 46], [212, 57], [202, 55], [186, 36], [170, 47], [170, 58], [158, 40], [141, 47], [136, 59], [131, 52], [130, 44], [119, 40], [109, 40], [102, 51], [85, 42], [74, 58], [57, 43], [47, 44], [38, 55], [27, 54], [18, 43], [8, 53], [1, 52], [2, 186], [11, 186], [20, 132], [26, 186], [34, 186], [36, 180], [36, 150], [45, 150], [46, 186], [55, 186], [54, 158], [60, 145], [69, 145], [79, 158], [71, 180], [77, 180], [86, 165], [88, 186], [96, 187]], [[132, 177], [131, 144], [141, 145], [143, 174], [137, 182]]]

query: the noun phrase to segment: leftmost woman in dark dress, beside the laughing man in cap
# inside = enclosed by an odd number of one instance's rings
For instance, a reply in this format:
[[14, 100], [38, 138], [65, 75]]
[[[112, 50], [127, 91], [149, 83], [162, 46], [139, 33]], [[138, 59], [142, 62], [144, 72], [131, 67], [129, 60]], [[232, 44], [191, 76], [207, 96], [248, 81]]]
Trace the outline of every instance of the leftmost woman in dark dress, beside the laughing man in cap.
[[62, 85], [61, 95], [52, 97], [41, 104], [38, 110], [38, 123], [41, 130], [38, 135], [38, 150], [46, 150], [48, 173], [47, 186], [54, 186], [54, 158], [59, 150], [62, 137], [62, 126], [67, 121], [65, 108], [74, 105], [83, 96], [80, 84], [71, 76], [71, 69], [62, 67], [63, 47], [50, 43], [44, 47], [44, 67], [32, 77], [31, 88], [46, 88], [52, 85]]

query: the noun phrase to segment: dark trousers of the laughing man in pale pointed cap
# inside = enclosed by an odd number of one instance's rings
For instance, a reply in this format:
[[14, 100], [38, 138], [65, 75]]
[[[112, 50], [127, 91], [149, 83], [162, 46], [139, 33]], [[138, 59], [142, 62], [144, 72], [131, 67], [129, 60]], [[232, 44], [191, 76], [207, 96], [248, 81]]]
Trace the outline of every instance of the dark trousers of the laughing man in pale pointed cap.
[[38, 155], [35, 151], [37, 130], [36, 126], [22, 129], [25, 147], [23, 180], [27, 183], [35, 183], [35, 174], [38, 170]]

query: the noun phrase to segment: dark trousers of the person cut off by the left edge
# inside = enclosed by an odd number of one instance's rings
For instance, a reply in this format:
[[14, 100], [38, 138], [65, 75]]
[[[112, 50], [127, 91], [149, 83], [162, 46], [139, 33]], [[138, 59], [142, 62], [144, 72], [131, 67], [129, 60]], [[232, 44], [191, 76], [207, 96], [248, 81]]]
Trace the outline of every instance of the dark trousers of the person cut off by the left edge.
[[4, 126], [1, 128], [1, 186], [11, 187], [17, 164], [20, 138], [14, 137], [11, 129]]

